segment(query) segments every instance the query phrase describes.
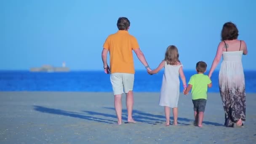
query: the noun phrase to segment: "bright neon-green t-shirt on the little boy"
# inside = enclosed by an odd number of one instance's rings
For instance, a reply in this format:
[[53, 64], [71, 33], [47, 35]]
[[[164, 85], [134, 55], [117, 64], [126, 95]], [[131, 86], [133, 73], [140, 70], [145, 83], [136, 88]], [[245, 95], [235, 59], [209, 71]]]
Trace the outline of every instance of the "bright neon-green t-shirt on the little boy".
[[211, 83], [208, 75], [195, 74], [190, 77], [189, 84], [192, 85], [192, 99], [207, 99], [208, 84]]

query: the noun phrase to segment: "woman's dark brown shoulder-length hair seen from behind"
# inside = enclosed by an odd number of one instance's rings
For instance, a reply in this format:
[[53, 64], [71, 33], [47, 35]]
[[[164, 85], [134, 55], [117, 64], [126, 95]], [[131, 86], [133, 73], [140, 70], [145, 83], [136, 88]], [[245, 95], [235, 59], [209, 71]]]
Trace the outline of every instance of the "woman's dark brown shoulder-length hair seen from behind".
[[226, 22], [221, 30], [221, 40], [235, 40], [238, 37], [238, 29], [232, 22]]

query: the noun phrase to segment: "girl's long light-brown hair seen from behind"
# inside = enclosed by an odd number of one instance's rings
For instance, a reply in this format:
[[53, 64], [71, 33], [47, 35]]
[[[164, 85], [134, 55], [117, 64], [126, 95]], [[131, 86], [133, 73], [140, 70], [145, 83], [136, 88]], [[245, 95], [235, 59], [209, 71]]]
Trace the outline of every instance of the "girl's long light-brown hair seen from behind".
[[170, 65], [176, 65], [177, 62], [180, 62], [178, 48], [175, 45], [169, 45], [166, 49], [165, 61]]

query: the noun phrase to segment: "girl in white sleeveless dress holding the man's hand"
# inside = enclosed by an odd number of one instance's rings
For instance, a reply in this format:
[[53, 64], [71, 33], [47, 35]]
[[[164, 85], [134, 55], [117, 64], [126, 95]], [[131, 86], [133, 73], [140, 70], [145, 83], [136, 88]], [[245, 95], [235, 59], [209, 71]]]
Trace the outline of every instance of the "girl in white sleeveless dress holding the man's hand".
[[180, 85], [179, 76], [181, 77], [184, 89], [187, 88], [187, 85], [182, 68], [183, 66], [179, 61], [179, 53], [176, 46], [168, 46], [165, 52], [165, 59], [156, 69], [148, 72], [153, 75], [159, 72], [163, 67], [165, 68], [165, 71], [163, 74], [159, 105], [165, 107], [165, 126], [170, 125], [170, 107], [173, 108], [173, 125], [177, 125]]

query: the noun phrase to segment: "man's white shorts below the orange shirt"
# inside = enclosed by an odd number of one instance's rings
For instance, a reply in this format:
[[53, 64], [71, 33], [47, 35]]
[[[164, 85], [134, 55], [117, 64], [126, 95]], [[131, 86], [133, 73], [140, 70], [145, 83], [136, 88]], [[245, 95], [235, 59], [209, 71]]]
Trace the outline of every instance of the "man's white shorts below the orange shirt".
[[110, 74], [114, 95], [128, 93], [133, 90], [134, 74], [128, 73], [113, 73]]

